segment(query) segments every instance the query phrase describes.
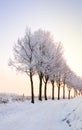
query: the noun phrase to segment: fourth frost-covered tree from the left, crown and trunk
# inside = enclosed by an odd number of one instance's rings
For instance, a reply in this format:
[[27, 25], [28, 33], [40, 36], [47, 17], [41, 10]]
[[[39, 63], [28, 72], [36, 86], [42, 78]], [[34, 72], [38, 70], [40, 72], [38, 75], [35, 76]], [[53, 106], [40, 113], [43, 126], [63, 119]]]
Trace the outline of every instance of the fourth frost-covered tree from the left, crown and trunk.
[[[44, 75], [45, 83], [49, 79], [52, 84], [52, 99], [54, 99], [54, 83], [57, 81], [58, 83], [58, 74], [61, 70], [61, 63], [62, 63], [62, 55], [63, 55], [63, 47], [62, 44], [53, 42], [49, 47], [50, 53], [48, 56], [48, 62], [45, 67]], [[58, 85], [59, 87], [59, 85]], [[58, 89], [59, 90], [59, 89]], [[46, 88], [45, 88], [45, 95], [46, 95]], [[46, 97], [46, 96], [45, 96]]]

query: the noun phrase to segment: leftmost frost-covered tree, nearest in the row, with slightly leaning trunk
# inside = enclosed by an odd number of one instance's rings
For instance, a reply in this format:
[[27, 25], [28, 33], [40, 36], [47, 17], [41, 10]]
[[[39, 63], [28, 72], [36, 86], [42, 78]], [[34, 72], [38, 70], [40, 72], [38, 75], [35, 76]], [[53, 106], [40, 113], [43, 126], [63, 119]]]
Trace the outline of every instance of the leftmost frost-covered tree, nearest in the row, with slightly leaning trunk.
[[25, 36], [18, 39], [13, 51], [13, 58], [10, 59], [9, 65], [16, 68], [17, 71], [26, 73], [30, 77], [31, 83], [31, 102], [34, 103], [33, 75], [35, 73], [33, 34], [26, 29]]

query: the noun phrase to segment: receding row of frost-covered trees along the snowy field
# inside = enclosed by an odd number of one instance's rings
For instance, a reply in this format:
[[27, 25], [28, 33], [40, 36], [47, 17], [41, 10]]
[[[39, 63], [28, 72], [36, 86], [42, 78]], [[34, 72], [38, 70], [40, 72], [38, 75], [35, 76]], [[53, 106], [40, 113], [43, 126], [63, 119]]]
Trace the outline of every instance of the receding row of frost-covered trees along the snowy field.
[[70, 70], [63, 56], [62, 44], [55, 42], [50, 32], [37, 30], [32, 33], [27, 28], [25, 36], [18, 39], [15, 44], [13, 52], [9, 65], [30, 77], [32, 103], [34, 103], [33, 76], [36, 74], [39, 77], [39, 100], [42, 100], [42, 81], [45, 84], [45, 100], [47, 100], [48, 82], [52, 84], [52, 99], [54, 99], [55, 82], [58, 86], [58, 99], [61, 84], [63, 84], [63, 98], [65, 98], [65, 84], [81, 88], [82, 80]]

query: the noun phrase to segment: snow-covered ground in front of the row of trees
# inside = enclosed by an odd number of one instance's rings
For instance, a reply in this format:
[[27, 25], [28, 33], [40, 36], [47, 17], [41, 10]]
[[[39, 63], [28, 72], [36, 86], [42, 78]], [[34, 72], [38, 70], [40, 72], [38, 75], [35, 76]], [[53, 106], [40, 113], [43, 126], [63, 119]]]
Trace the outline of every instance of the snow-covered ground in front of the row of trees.
[[0, 104], [0, 130], [82, 130], [82, 97]]

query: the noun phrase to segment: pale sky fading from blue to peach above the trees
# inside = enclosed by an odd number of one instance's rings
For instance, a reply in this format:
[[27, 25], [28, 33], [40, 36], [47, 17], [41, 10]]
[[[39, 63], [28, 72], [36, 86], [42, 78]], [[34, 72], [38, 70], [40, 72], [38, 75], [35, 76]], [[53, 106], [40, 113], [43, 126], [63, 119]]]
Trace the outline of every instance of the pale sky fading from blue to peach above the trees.
[[70, 67], [82, 76], [82, 0], [0, 0], [0, 92], [27, 91], [27, 77], [8, 67], [25, 28], [48, 30], [61, 41]]

